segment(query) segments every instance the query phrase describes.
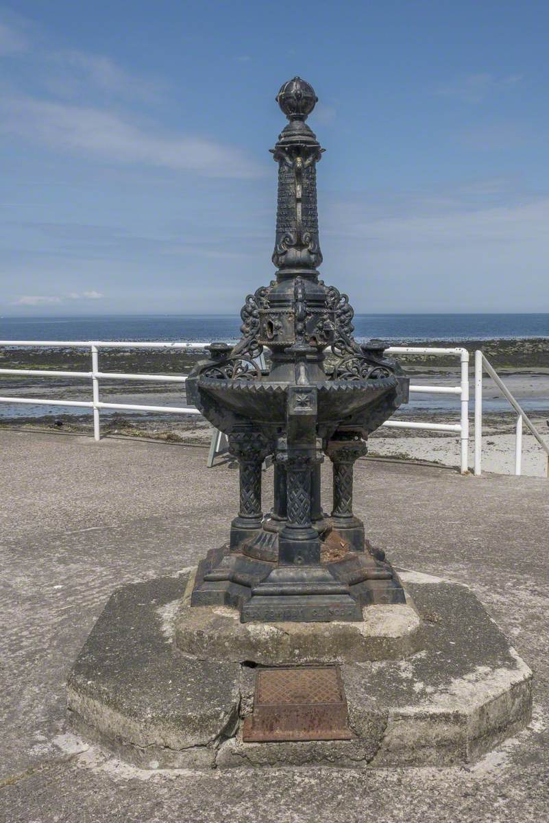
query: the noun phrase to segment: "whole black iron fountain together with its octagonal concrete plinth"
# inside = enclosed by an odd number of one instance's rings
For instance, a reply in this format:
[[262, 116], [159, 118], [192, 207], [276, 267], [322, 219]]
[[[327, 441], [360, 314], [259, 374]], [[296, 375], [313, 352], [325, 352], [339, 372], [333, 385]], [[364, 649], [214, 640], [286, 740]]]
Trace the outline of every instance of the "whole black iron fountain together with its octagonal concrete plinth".
[[212, 344], [187, 379], [238, 459], [240, 511], [197, 567], [113, 593], [69, 674], [68, 717], [145, 769], [463, 764], [527, 725], [532, 672], [468, 588], [395, 574], [353, 514], [353, 466], [408, 378], [381, 342], [354, 340], [347, 295], [318, 277], [316, 95], [294, 77], [277, 100], [276, 279], [247, 297], [242, 340]]

